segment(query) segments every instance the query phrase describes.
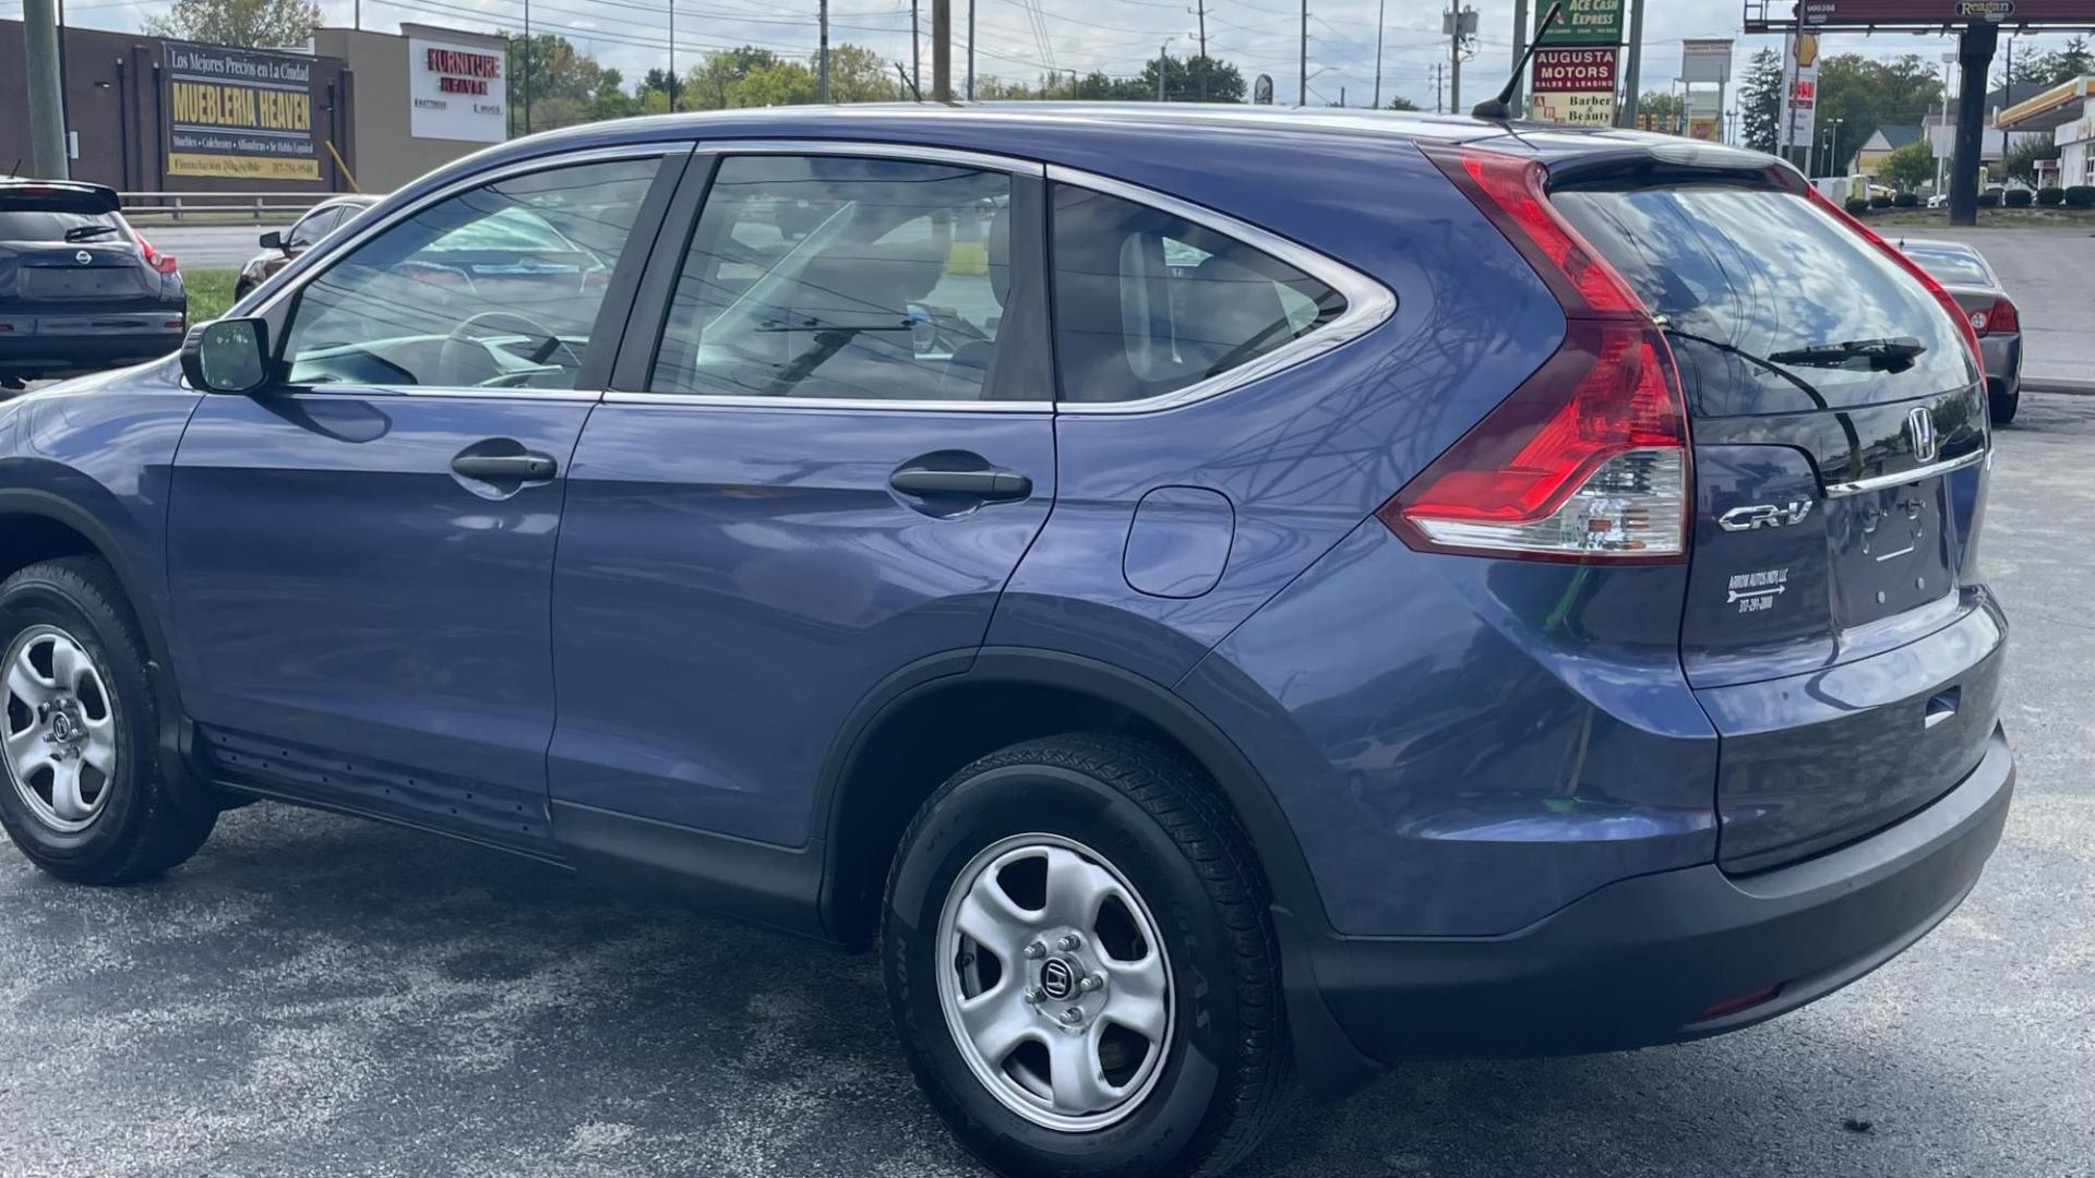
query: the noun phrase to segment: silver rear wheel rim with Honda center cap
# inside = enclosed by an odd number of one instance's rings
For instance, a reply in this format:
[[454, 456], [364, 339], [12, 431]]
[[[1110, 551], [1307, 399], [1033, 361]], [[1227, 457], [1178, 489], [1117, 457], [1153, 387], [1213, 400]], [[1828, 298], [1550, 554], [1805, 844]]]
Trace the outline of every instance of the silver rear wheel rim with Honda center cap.
[[983, 849], [939, 916], [936, 970], [960, 1056], [1035, 1126], [1102, 1130], [1156, 1088], [1171, 958], [1148, 903], [1098, 851], [1060, 834]]

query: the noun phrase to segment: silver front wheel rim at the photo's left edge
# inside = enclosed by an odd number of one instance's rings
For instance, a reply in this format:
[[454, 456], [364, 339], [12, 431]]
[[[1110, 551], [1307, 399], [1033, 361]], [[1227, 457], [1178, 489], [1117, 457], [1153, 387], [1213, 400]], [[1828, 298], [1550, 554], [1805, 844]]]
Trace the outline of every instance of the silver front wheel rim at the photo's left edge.
[[117, 773], [117, 715], [80, 639], [50, 625], [15, 635], [0, 744], [8, 782], [38, 822], [73, 834], [103, 813]]

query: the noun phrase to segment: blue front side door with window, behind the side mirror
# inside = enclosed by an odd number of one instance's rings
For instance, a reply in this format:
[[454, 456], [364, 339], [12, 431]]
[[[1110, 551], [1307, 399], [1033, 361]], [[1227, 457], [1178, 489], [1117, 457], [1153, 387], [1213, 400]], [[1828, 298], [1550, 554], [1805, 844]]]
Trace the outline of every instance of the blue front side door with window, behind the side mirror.
[[553, 545], [662, 172], [549, 163], [392, 220], [272, 308], [279, 386], [203, 398], [170, 631], [220, 776], [547, 845]]

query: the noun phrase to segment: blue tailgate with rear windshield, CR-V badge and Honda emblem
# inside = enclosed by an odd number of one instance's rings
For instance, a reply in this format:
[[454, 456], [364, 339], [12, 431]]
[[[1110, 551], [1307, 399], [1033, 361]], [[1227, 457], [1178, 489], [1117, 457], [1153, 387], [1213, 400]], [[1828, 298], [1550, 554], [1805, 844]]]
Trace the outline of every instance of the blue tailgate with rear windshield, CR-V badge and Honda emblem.
[[1999, 690], [1999, 627], [1971, 620], [1990, 451], [1959, 325], [1787, 191], [1601, 178], [1552, 199], [1661, 319], [1689, 396], [1680, 654], [1724, 734], [1722, 861], [1802, 857], [1940, 797]]

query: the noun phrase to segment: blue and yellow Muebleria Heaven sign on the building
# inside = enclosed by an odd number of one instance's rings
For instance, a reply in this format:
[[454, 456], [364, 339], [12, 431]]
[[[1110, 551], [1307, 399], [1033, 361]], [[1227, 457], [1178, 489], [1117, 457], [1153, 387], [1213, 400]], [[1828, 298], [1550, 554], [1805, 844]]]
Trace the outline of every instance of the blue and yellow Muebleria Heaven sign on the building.
[[170, 176], [321, 178], [310, 57], [168, 42], [159, 107]]

